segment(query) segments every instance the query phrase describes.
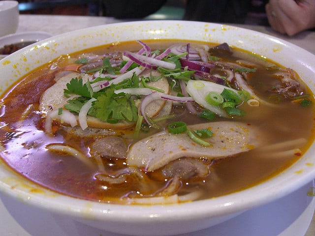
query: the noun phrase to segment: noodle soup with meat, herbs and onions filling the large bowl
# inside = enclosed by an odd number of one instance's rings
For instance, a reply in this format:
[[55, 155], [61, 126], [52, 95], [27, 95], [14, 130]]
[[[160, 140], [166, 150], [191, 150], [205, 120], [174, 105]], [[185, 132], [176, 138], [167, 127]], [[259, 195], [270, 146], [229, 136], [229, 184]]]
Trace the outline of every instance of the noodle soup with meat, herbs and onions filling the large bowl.
[[[141, 66], [129, 62], [124, 71], [130, 59]], [[135, 67], [141, 74], [127, 82], [108, 82]], [[126, 90], [115, 97], [118, 89]], [[87, 101], [94, 104], [88, 116], [82, 112], [71, 127]], [[1, 157], [32, 181], [77, 198], [135, 204], [212, 198], [298, 160], [314, 139], [313, 104], [293, 70], [224, 43], [114, 43], [62, 55], [3, 95]]]

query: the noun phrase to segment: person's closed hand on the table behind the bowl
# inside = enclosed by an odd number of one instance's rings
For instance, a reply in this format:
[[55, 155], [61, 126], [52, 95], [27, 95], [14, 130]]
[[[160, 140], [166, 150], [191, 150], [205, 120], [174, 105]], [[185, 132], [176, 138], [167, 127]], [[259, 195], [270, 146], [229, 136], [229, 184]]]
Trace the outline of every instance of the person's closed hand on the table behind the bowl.
[[269, 0], [265, 8], [270, 26], [282, 34], [315, 27], [315, 0]]

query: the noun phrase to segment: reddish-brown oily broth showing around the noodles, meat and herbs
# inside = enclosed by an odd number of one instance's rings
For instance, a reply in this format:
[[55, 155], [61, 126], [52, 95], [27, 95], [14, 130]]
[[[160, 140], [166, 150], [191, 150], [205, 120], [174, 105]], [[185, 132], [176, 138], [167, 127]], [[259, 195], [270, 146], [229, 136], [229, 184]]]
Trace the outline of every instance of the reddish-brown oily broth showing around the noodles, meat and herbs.
[[[178, 41], [146, 41], [153, 49], [166, 48], [176, 42]], [[192, 43], [198, 44], [199, 42]], [[209, 44], [209, 46], [214, 46], [214, 44]], [[54, 84], [53, 79], [58, 72], [58, 69], [51, 68], [63, 67], [73, 63], [83, 53], [100, 55], [117, 50], [137, 51], [140, 48], [136, 42], [115, 43], [73, 55], [64, 55], [22, 78], [3, 96], [0, 121], [5, 125], [0, 129], [0, 137], [3, 147], [1, 157], [4, 161], [17, 173], [32, 181], [53, 191], [77, 198], [119, 202], [122, 197], [150, 196], [165, 188], [166, 179], [161, 175], [161, 169], [152, 173], [141, 172], [143, 178], [133, 175], [127, 177], [123, 183], [108, 185], [95, 178], [98, 173], [96, 166], [95, 168], [88, 168], [75, 157], [47, 151], [46, 146], [49, 144], [63, 144], [78, 149], [89, 157], [91, 155], [89, 152], [90, 145], [95, 137], [81, 138], [64, 132], [62, 129], [54, 137], [51, 137], [43, 131], [44, 120], [38, 112], [40, 96]], [[244, 51], [241, 52], [239, 54], [244, 54]], [[227, 57], [226, 60], [232, 57]], [[272, 72], [266, 71], [262, 66], [257, 66], [257, 71], [259, 73], [254, 73], [248, 78], [249, 84], [255, 88], [255, 91], [263, 100], [268, 100], [270, 92], [266, 90], [268, 88], [266, 83], [272, 84], [274, 80], [271, 76]], [[311, 93], [310, 89], [307, 92]], [[312, 101], [314, 103], [314, 100]], [[178, 116], [168, 122], [179, 119], [187, 124], [206, 122], [202, 118], [196, 118], [195, 115], [190, 114], [180, 105], [174, 105], [173, 109]], [[303, 154], [313, 142], [313, 108], [297, 106], [291, 101], [282, 99], [280, 105], [267, 106], [260, 104], [259, 107], [252, 108], [244, 104], [242, 109], [246, 111], [247, 115], [245, 117], [216, 118], [215, 121], [230, 120], [233, 122], [241, 120], [256, 125], [268, 133], [271, 143], [304, 137], [308, 140], [307, 144], [300, 147], [301, 152], [297, 153], [298, 155], [288, 157], [264, 155], [264, 150], [261, 148], [260, 151], [251, 150], [237, 156], [209, 162], [210, 174], [203, 178], [196, 177], [191, 181], [182, 181], [182, 188], [178, 194], [204, 189], [201, 199], [206, 199], [248, 188], [277, 175], [292, 165], [299, 159], [299, 154]], [[123, 138], [129, 139], [132, 136], [130, 135], [132, 129], [117, 130], [115, 132], [117, 136]], [[140, 137], [144, 137], [144, 134], [141, 134]], [[130, 142], [130, 144], [133, 142], [135, 141]], [[103, 159], [103, 163], [107, 170], [118, 171], [127, 167], [124, 159]], [[139, 181], [139, 179], [142, 180]]]

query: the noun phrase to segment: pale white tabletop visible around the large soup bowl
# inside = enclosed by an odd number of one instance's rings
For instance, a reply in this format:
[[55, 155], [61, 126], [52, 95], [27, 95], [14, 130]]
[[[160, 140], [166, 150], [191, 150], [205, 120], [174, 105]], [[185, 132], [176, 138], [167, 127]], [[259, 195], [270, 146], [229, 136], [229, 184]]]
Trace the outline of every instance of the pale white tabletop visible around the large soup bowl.
[[[50, 15], [20, 15], [19, 27], [17, 32], [25, 31], [46, 31], [53, 35], [61, 34], [75, 29], [83, 29], [92, 26], [122, 22], [108, 17], [90, 16], [50, 16]], [[236, 25], [247, 29], [264, 32], [288, 42], [296, 44], [301, 48], [315, 54], [315, 31], [304, 31], [293, 37], [281, 35], [274, 32], [269, 27]], [[305, 236], [315, 236], [315, 216], [311, 222]]]

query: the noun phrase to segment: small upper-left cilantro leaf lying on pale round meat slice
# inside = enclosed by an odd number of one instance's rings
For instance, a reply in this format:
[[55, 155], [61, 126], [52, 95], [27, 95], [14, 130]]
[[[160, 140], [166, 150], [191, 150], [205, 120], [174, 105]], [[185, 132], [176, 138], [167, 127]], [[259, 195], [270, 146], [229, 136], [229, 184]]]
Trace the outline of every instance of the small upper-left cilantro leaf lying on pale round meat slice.
[[69, 94], [77, 94], [83, 97], [92, 98], [93, 89], [90, 82], [83, 84], [83, 79], [72, 78], [66, 85], [67, 89], [63, 89], [64, 96], [69, 97]]

